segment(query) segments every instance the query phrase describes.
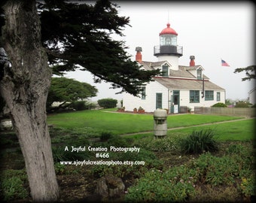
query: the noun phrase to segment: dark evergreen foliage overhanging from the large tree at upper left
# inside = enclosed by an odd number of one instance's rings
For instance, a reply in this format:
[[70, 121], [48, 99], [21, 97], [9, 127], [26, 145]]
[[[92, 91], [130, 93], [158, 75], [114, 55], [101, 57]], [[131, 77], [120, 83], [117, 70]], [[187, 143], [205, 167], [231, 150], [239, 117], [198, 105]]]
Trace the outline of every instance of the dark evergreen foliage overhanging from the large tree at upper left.
[[38, 8], [42, 44], [54, 74], [79, 68], [94, 74], [96, 83], [106, 80], [112, 88], [123, 87], [121, 92], [137, 95], [143, 84], [160, 73], [140, 69], [125, 51], [124, 42], [111, 38], [113, 33], [122, 36], [130, 22], [129, 17], [118, 15], [116, 4], [105, 0], [95, 5], [50, 1], [38, 2]]

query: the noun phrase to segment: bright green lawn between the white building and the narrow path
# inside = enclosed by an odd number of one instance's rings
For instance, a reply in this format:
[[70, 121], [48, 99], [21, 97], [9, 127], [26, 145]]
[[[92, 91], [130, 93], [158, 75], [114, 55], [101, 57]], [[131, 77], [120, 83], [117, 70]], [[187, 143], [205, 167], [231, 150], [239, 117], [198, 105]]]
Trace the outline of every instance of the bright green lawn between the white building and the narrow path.
[[[52, 114], [47, 122], [58, 128], [110, 131], [114, 135], [151, 131], [154, 125], [151, 114], [114, 114], [116, 109], [101, 111], [76, 111], [72, 113]], [[183, 114], [169, 116], [167, 127], [194, 126], [203, 123], [216, 123], [226, 120], [237, 120], [241, 117], [224, 117], [216, 115]]]

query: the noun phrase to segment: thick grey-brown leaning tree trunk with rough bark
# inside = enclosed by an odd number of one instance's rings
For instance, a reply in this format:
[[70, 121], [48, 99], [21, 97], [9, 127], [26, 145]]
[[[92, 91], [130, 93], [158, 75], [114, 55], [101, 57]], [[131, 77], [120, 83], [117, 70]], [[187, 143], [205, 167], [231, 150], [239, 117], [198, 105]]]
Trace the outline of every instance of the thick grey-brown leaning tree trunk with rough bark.
[[33, 201], [56, 201], [59, 188], [47, 129], [51, 71], [41, 46], [35, 0], [7, 1], [2, 45], [10, 65], [0, 83], [26, 163]]

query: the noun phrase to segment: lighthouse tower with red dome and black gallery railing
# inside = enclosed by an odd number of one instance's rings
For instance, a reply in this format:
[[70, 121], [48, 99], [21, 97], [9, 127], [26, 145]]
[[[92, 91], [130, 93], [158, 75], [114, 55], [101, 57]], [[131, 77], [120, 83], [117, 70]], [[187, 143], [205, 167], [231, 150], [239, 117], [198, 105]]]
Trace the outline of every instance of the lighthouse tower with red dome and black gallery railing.
[[183, 47], [177, 45], [177, 32], [170, 27], [167, 27], [160, 32], [160, 45], [154, 46], [154, 56], [157, 56], [158, 61], [167, 61], [172, 70], [178, 70], [178, 58], [182, 56]]

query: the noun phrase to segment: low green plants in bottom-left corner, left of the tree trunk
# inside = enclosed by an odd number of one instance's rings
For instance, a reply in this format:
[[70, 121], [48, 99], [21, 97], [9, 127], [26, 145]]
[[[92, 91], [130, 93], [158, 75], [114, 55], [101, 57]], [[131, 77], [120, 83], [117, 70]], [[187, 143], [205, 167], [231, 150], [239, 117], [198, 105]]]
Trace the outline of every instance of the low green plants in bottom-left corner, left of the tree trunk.
[[10, 202], [29, 196], [29, 191], [24, 187], [28, 182], [26, 171], [11, 169], [2, 171], [0, 181], [2, 200]]

